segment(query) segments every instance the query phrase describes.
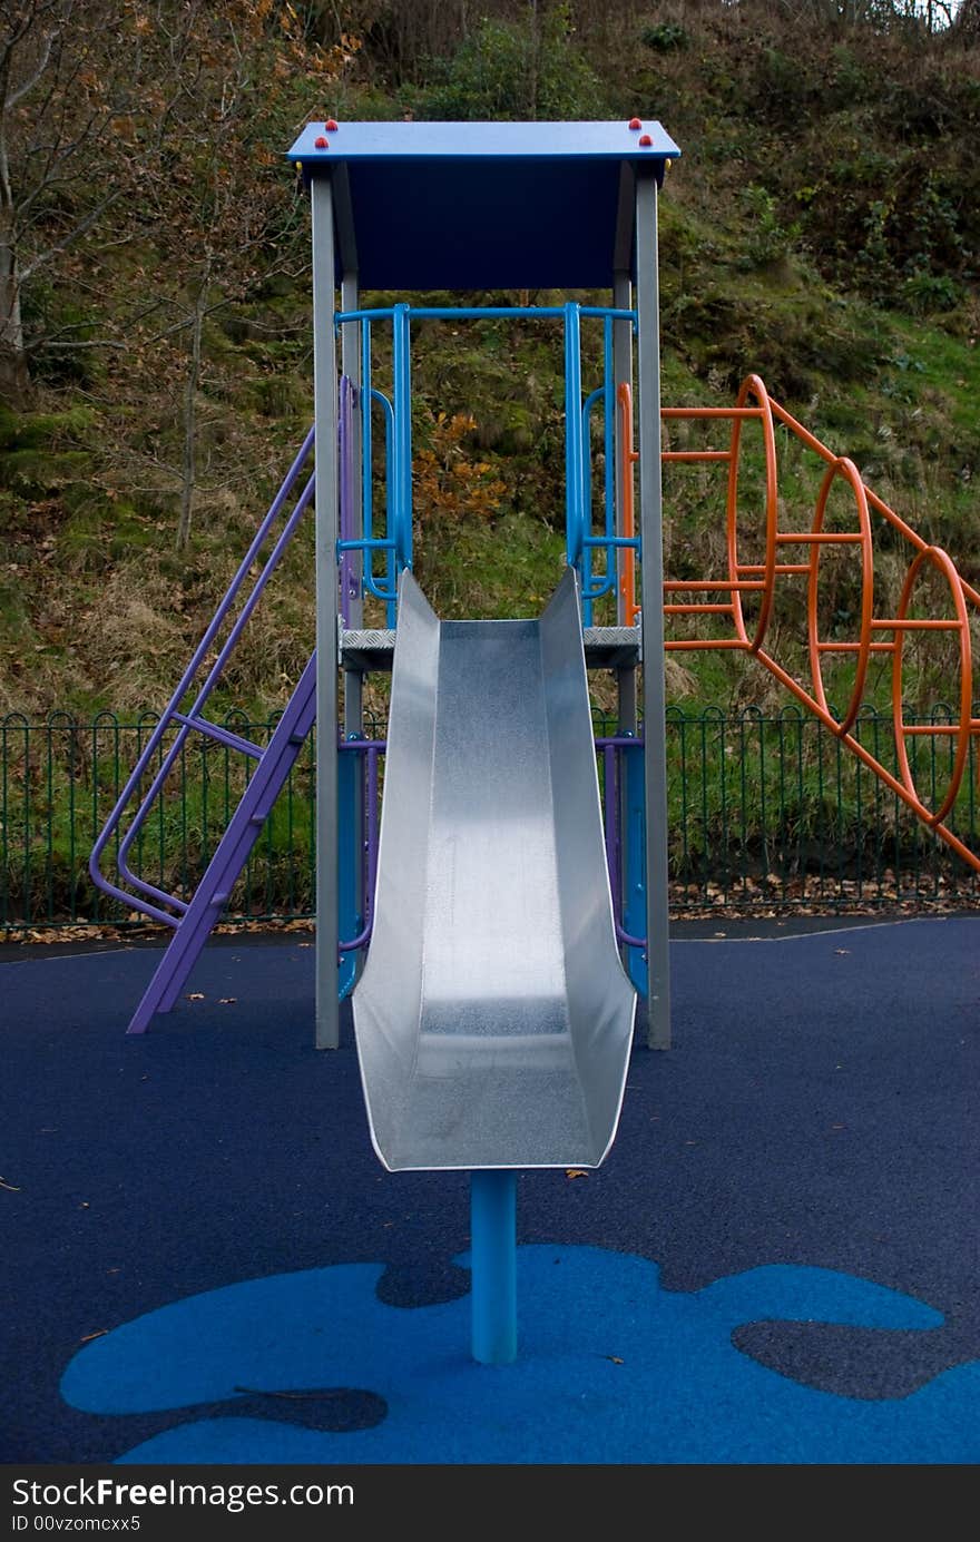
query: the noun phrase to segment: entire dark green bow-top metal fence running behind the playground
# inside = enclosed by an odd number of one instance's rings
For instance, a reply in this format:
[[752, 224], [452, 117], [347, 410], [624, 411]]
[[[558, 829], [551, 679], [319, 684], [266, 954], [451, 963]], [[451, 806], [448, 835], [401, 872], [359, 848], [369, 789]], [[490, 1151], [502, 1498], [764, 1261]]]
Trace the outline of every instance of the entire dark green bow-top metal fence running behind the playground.
[[[912, 720], [912, 719], [909, 719]], [[938, 705], [918, 722], [948, 723]], [[256, 743], [276, 719], [230, 712], [222, 723]], [[88, 876], [88, 854], [156, 717], [52, 712], [0, 717], [0, 930], [142, 925]], [[369, 732], [383, 732], [369, 723]], [[917, 820], [823, 725], [795, 706], [776, 715], [718, 708], [667, 717], [671, 911], [764, 911], [980, 901], [977, 874]], [[597, 732], [614, 723], [596, 717]], [[866, 711], [855, 732], [894, 768], [890, 717]], [[923, 796], [941, 797], [952, 736], [911, 742]], [[971, 850], [977, 830], [972, 760], [949, 823]], [[161, 888], [193, 891], [248, 774], [242, 757], [188, 743], [142, 828], [133, 868]], [[313, 913], [315, 737], [296, 762], [228, 907], [242, 922]]]

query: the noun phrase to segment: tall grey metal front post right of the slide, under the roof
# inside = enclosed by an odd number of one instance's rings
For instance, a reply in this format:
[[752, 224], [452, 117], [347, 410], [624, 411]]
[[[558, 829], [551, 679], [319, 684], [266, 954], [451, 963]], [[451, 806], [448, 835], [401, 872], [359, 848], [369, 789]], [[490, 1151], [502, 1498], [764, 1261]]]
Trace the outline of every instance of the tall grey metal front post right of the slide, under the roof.
[[647, 968], [650, 1049], [670, 1049], [667, 882], [667, 683], [664, 678], [664, 500], [661, 489], [661, 295], [657, 182], [636, 182], [636, 318], [639, 378], [639, 527], [642, 532], [644, 768], [647, 780]]

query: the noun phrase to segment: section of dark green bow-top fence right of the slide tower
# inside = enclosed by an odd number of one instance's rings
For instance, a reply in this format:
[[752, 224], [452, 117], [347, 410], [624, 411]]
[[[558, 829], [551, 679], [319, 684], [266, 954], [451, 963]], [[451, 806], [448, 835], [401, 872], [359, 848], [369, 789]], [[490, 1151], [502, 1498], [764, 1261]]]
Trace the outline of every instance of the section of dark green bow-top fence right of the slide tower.
[[[940, 703], [906, 723], [951, 725]], [[874, 908], [972, 904], [980, 876], [940, 842], [840, 739], [790, 705], [775, 715], [667, 714], [671, 910]], [[894, 776], [890, 714], [864, 709], [852, 734]], [[946, 823], [971, 850], [977, 763]], [[921, 797], [938, 808], [954, 734], [909, 740]]]

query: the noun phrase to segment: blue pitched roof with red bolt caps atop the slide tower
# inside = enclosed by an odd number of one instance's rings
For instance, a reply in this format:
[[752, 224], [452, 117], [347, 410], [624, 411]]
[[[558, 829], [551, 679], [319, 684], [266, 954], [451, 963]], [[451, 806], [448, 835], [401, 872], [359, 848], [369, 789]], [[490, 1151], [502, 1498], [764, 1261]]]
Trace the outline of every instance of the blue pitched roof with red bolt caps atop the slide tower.
[[289, 151], [330, 176], [338, 264], [361, 288], [605, 288], [633, 262], [637, 168], [681, 151], [656, 122], [309, 123]]

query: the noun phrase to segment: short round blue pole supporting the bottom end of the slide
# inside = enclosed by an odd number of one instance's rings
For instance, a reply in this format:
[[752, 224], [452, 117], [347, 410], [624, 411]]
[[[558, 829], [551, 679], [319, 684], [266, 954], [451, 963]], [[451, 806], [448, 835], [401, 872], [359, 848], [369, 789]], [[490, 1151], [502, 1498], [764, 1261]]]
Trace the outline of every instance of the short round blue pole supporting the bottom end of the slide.
[[517, 1173], [488, 1167], [469, 1177], [472, 1357], [517, 1359]]

